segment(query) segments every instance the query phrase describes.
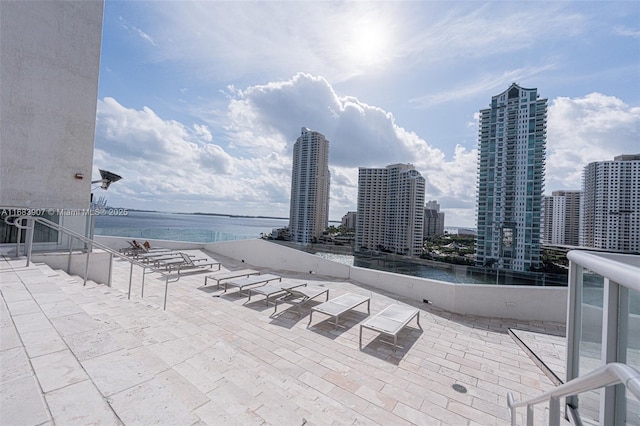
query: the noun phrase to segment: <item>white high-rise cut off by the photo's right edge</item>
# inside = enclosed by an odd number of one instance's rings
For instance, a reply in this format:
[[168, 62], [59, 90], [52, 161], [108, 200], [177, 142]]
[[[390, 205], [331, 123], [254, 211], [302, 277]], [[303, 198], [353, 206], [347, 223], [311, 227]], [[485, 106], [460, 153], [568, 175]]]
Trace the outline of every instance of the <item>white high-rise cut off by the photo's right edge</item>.
[[640, 154], [589, 163], [582, 176], [580, 245], [640, 252]]

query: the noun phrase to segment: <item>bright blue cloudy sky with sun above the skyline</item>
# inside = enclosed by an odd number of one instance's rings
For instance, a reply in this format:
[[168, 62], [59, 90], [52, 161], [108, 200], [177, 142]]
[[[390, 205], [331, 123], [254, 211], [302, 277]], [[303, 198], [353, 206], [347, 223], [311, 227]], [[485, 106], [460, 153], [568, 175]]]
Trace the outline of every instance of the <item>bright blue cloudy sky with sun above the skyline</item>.
[[330, 220], [359, 167], [413, 164], [475, 227], [478, 112], [548, 99], [545, 193], [640, 153], [637, 1], [106, 0], [94, 179], [110, 206], [289, 216], [302, 127], [325, 135]]

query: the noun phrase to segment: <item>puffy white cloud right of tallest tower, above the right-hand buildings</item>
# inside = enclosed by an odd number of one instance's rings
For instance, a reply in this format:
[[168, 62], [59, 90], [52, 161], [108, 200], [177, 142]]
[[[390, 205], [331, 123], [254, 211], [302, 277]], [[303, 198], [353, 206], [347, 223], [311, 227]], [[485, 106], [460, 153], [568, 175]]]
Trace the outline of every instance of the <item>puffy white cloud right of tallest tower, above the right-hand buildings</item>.
[[[582, 170], [590, 162], [640, 152], [640, 107], [613, 96], [556, 98], [548, 122], [547, 193], [581, 189]], [[628, 152], [630, 147], [633, 152]]]

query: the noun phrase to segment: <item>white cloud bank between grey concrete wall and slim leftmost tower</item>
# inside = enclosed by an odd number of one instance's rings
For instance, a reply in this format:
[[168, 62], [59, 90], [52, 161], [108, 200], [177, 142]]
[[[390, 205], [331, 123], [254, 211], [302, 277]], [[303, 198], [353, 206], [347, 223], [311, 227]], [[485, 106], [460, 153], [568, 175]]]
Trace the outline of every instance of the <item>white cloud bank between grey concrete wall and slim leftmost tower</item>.
[[110, 203], [246, 214], [254, 206], [268, 211], [288, 205], [286, 159], [283, 164], [278, 156], [233, 158], [209, 142], [205, 129], [164, 120], [148, 107], [135, 110], [113, 98], [100, 100], [94, 166], [123, 176], [109, 189]]

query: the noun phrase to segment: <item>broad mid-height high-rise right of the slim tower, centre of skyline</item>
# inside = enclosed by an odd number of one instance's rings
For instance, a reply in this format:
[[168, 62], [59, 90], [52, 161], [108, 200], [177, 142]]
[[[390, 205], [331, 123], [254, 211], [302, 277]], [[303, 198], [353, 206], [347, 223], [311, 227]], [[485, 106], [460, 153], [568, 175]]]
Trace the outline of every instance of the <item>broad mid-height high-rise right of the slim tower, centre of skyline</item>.
[[358, 170], [356, 250], [420, 256], [425, 180], [411, 164]]

